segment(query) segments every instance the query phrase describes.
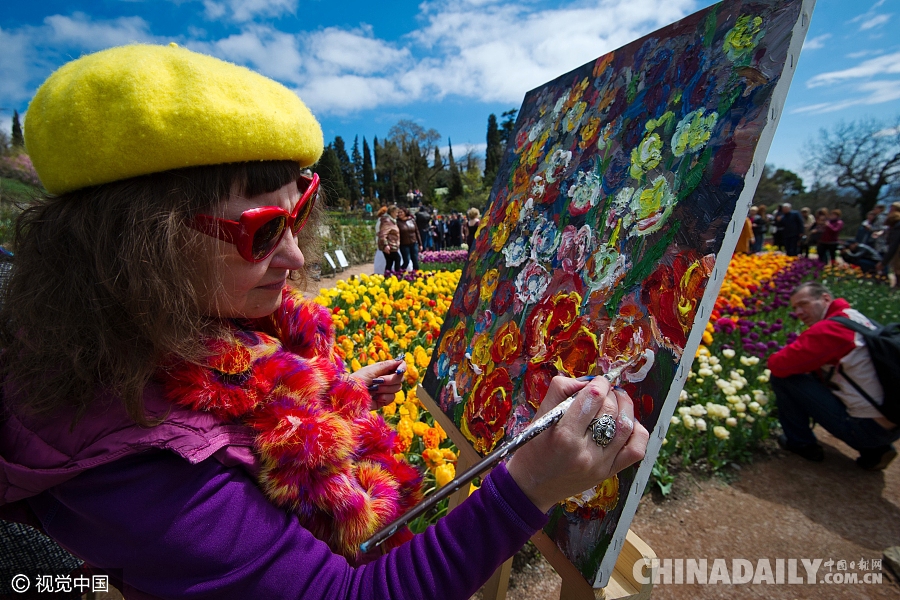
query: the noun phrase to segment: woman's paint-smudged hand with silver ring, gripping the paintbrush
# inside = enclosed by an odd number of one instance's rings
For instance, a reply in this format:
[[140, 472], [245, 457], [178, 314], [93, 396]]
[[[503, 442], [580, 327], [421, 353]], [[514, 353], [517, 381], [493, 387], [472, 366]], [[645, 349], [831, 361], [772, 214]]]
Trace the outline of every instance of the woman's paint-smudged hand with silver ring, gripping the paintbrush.
[[[542, 512], [592, 488], [644, 457], [650, 434], [634, 420], [629, 395], [604, 377], [590, 383], [554, 377], [535, 418], [575, 394], [559, 423], [516, 451], [507, 468], [526, 496]], [[594, 442], [588, 427], [610, 415], [616, 434], [606, 447]]]

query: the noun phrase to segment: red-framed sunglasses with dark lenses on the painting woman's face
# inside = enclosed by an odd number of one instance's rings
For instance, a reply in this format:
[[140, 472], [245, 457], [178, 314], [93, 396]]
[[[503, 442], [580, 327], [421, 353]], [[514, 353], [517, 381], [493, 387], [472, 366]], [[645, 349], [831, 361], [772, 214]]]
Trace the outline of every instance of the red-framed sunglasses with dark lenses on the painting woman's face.
[[303, 229], [316, 205], [319, 191], [319, 175], [297, 180], [300, 200], [289, 213], [278, 206], [261, 206], [241, 213], [237, 221], [209, 215], [196, 215], [191, 227], [206, 235], [219, 238], [237, 246], [238, 254], [248, 262], [261, 262], [275, 251], [284, 232], [290, 229], [294, 235]]

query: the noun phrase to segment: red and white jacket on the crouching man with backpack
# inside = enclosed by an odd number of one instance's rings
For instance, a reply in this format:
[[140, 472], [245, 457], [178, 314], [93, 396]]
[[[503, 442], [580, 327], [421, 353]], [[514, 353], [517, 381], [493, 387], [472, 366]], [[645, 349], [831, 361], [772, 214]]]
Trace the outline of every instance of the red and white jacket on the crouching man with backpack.
[[[769, 370], [775, 377], [789, 377], [822, 369], [838, 389], [834, 395], [847, 406], [851, 417], [877, 419], [890, 422], [860, 395], [835, 367], [841, 369], [859, 384], [876, 402], [884, 400], [884, 389], [875, 373], [875, 367], [861, 335], [830, 318], [847, 317], [872, 329], [875, 326], [865, 315], [850, 307], [843, 298], [836, 298], [825, 311], [825, 317], [800, 334], [769, 357]], [[883, 423], [885, 424], [885, 423]]]

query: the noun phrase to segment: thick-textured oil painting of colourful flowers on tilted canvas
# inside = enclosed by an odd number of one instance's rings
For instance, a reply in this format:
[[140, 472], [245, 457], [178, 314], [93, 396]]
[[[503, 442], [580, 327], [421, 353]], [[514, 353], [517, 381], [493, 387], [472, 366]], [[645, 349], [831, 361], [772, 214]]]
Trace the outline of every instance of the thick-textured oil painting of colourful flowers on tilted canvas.
[[544, 530], [595, 587], [665, 437], [813, 5], [714, 4], [532, 90], [507, 141], [423, 388], [486, 455], [555, 375], [621, 368], [646, 458], [557, 505]]

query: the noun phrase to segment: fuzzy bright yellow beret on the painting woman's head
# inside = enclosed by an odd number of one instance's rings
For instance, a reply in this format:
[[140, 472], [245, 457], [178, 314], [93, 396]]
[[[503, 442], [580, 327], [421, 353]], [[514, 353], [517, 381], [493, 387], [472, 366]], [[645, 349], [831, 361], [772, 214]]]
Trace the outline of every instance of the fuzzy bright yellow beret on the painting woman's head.
[[199, 165], [307, 166], [323, 146], [322, 128], [295, 93], [175, 44], [121, 46], [63, 65], [35, 94], [24, 130], [54, 194]]

